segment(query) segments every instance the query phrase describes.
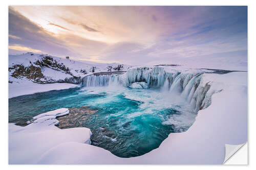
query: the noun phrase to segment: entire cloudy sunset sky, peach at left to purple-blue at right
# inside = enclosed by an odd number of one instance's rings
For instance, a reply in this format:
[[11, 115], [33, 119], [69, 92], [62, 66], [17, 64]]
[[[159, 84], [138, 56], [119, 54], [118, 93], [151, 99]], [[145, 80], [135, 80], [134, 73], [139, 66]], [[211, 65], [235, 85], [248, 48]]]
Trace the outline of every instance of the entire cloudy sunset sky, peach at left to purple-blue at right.
[[247, 60], [246, 6], [9, 6], [9, 54], [101, 63]]

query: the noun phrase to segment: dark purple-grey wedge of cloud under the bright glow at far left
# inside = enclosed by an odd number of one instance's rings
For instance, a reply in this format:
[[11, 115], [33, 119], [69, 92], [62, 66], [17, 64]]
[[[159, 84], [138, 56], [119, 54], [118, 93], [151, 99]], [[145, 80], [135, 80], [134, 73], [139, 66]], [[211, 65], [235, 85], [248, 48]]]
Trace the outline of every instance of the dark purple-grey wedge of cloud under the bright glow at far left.
[[12, 8], [9, 8], [9, 34], [20, 38], [13, 39], [9, 36], [9, 45], [20, 44], [58, 56], [70, 53], [63, 41], [37, 26]]

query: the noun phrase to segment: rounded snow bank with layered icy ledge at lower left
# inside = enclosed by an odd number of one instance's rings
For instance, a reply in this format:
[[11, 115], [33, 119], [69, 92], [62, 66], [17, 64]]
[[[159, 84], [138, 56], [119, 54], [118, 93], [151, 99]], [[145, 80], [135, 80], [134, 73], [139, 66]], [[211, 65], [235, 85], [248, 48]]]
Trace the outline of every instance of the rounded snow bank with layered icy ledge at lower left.
[[61, 108], [33, 117], [32, 123], [25, 127], [9, 124], [9, 163], [36, 164], [45, 153], [61, 143], [90, 144], [90, 129], [54, 126], [58, 124], [56, 117], [66, 114], [69, 110]]

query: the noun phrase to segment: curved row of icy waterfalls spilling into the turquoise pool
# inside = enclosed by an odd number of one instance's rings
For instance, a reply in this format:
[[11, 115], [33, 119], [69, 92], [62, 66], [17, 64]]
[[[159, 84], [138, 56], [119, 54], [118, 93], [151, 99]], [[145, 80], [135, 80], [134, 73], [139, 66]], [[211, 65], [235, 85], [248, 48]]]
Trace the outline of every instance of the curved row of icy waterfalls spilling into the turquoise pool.
[[211, 104], [211, 95], [217, 91], [211, 89], [212, 82], [204, 80], [202, 70], [189, 72], [168, 70], [164, 67], [133, 67], [123, 74], [97, 74], [82, 79], [82, 86], [121, 85], [132, 88], [133, 83], [144, 82], [148, 87], [159, 87], [170, 95], [178, 94], [186, 99], [196, 111]]

